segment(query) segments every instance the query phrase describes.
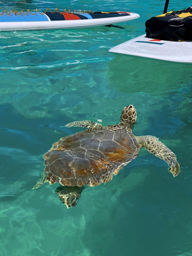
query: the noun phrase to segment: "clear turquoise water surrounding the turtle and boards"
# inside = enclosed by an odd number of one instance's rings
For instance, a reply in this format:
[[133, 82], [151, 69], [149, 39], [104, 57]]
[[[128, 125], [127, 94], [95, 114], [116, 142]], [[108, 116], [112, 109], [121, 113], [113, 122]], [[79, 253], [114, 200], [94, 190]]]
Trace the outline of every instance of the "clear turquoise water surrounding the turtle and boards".
[[[169, 10], [191, 4], [170, 2]], [[130, 10], [141, 18], [122, 29], [0, 33], [0, 255], [192, 255], [192, 66], [108, 52], [143, 34], [164, 1], [1, 2], [1, 10], [11, 7]], [[43, 153], [82, 130], [60, 126], [116, 123], [129, 104], [138, 114], [134, 134], [157, 136], [177, 154], [177, 177], [142, 149], [112, 181], [83, 190], [75, 208], [57, 199], [57, 184], [31, 190]]]

